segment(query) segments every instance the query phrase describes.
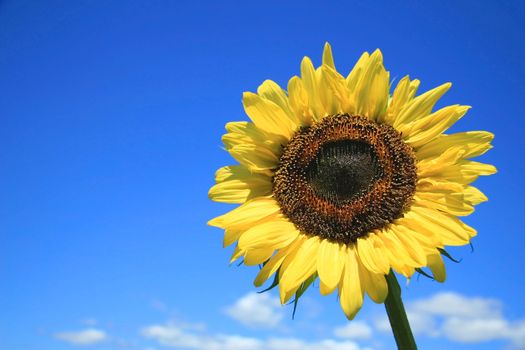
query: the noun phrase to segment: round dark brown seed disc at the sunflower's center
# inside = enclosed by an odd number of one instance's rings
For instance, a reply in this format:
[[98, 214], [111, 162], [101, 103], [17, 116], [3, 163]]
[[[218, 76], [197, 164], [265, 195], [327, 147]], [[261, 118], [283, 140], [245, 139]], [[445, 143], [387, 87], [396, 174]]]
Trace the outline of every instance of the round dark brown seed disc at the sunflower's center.
[[412, 148], [394, 128], [344, 114], [297, 131], [273, 193], [303, 232], [348, 244], [402, 217], [416, 180]]

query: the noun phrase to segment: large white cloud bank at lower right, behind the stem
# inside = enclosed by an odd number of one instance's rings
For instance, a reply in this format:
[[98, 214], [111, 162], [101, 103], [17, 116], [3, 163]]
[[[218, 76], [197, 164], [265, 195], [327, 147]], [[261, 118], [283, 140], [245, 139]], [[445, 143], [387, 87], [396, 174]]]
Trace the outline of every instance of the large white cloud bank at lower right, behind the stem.
[[[448, 292], [408, 303], [407, 314], [415, 334], [460, 343], [507, 340], [525, 349], [525, 320], [505, 319], [502, 308], [496, 299]], [[391, 332], [386, 316], [376, 320], [375, 326], [380, 331]]]

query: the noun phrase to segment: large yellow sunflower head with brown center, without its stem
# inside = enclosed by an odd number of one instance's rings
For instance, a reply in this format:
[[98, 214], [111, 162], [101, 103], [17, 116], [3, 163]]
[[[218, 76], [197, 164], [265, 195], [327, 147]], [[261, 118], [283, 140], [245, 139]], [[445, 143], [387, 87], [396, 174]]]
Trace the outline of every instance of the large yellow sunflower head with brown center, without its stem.
[[469, 159], [493, 134], [444, 134], [470, 107], [433, 111], [451, 84], [416, 96], [418, 86], [406, 76], [390, 94], [379, 50], [345, 78], [327, 43], [322, 65], [305, 57], [287, 91], [266, 80], [244, 93], [251, 122], [227, 123], [222, 137], [239, 164], [220, 168], [209, 191], [241, 205], [209, 225], [236, 243], [232, 262], [263, 264], [256, 286], [276, 274], [286, 303], [318, 277], [352, 319], [365, 292], [385, 301], [391, 269], [410, 278], [428, 267], [445, 280], [445, 246], [476, 235], [458, 217], [487, 200], [470, 184], [496, 169]]

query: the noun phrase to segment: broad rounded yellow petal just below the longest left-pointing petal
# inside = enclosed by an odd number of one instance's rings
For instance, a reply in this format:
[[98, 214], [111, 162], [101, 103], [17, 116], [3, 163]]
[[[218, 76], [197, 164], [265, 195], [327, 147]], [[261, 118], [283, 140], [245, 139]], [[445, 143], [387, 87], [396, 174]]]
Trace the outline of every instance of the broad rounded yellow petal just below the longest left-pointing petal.
[[293, 242], [299, 231], [288, 219], [263, 222], [246, 230], [239, 239], [242, 249], [280, 249]]

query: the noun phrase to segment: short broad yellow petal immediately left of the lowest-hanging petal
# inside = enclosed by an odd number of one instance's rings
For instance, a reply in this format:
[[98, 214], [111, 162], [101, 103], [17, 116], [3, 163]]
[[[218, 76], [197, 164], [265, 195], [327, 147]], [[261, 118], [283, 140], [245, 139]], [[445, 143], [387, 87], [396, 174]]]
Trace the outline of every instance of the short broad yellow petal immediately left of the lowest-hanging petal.
[[317, 256], [317, 272], [321, 280], [321, 294], [332, 293], [341, 280], [345, 254], [344, 246], [323, 239]]

